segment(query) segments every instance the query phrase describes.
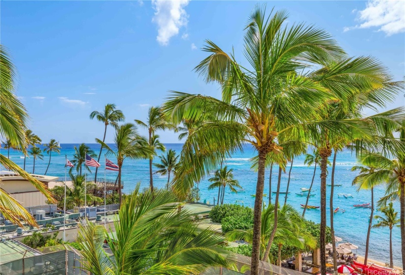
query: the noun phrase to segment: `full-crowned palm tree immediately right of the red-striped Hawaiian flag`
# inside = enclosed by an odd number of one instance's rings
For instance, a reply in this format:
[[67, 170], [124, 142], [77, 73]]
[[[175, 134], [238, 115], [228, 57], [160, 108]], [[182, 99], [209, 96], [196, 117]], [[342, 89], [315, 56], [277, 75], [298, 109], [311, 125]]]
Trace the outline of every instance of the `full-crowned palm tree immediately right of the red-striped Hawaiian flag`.
[[155, 152], [150, 149], [146, 139], [138, 134], [135, 125], [132, 123], [122, 124], [115, 129], [114, 135], [115, 150], [112, 150], [106, 143], [104, 143], [102, 140], [98, 138], [96, 138], [96, 141], [107, 149], [107, 154], [113, 155], [117, 159], [118, 194], [119, 194], [119, 204], [121, 205], [122, 203], [121, 173], [124, 160], [126, 158], [148, 159], [150, 158], [151, 155], [154, 155]]

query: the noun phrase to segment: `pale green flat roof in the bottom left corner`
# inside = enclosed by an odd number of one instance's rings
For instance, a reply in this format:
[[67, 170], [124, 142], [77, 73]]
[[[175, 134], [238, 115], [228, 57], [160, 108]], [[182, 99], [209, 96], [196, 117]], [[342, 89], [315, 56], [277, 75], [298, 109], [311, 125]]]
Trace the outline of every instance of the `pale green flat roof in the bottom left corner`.
[[37, 250], [12, 239], [0, 241], [0, 264], [40, 254]]

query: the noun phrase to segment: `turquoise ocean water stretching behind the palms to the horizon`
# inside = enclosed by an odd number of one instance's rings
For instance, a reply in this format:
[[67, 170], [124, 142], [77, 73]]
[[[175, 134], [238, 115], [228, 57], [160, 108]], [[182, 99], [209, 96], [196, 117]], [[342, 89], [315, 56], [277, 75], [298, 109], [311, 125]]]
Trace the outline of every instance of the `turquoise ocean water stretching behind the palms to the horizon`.
[[[78, 144], [60, 144], [61, 151], [60, 155], [54, 154], [52, 156], [51, 165], [48, 170], [48, 175], [54, 175], [64, 177], [64, 164], [65, 164], [65, 155], [68, 159], [71, 160], [74, 154], [74, 145]], [[99, 144], [87, 144], [92, 148], [96, 153], [99, 152]], [[167, 149], [176, 150], [180, 153], [182, 144], [165, 144]], [[7, 156], [7, 151], [1, 149], [1, 154]], [[256, 190], [256, 180], [257, 174], [250, 169], [249, 159], [255, 155], [255, 151], [249, 146], [244, 147], [243, 152], [238, 152], [234, 154], [231, 158], [228, 158], [226, 165], [234, 169], [234, 177], [239, 180], [242, 187], [245, 189], [245, 192], [232, 193], [229, 190], [226, 190], [224, 202], [225, 203], [239, 203], [246, 206], [253, 206], [254, 197], [250, 194], [254, 194]], [[10, 150], [10, 159], [23, 167], [24, 157], [20, 152]], [[49, 156], [44, 153], [44, 160], [36, 160], [35, 163], [35, 173], [43, 174], [48, 165]], [[113, 157], [110, 158], [111, 161], [115, 161]], [[155, 159], [155, 162], [158, 162], [159, 159]], [[32, 158], [27, 158], [26, 170], [32, 172]], [[100, 160], [102, 168], [104, 167], [104, 155]], [[335, 195], [333, 198], [334, 208], [339, 207], [340, 209], [345, 209], [346, 212], [338, 212], [334, 215], [334, 224], [335, 224], [335, 234], [343, 238], [344, 242], [351, 242], [359, 246], [357, 249], [358, 254], [364, 255], [366, 235], [367, 235], [367, 225], [370, 217], [370, 209], [365, 208], [353, 208], [353, 204], [359, 203], [368, 203], [371, 202], [371, 194], [369, 191], [360, 191], [356, 192], [356, 189], [351, 186], [351, 182], [355, 177], [356, 173], [351, 172], [351, 167], [356, 164], [355, 157], [351, 152], [344, 151], [340, 152], [337, 155], [336, 159], [336, 171], [335, 171], [335, 184], [342, 184], [341, 187], [335, 187]], [[300, 192], [300, 188], [305, 187], [309, 188], [311, 184], [311, 179], [313, 175], [313, 166], [307, 167], [304, 165], [303, 156], [297, 158], [294, 161], [293, 169], [291, 172], [291, 182], [290, 190], [291, 193], [288, 195], [287, 202], [292, 204], [297, 208], [298, 211], [302, 211], [300, 204], [305, 204], [306, 197], [296, 195], [297, 192]], [[95, 168], [91, 168], [94, 174]], [[288, 179], [288, 169], [287, 172], [282, 175], [281, 178], [281, 191], [285, 191], [287, 187]], [[328, 168], [329, 172], [331, 168]], [[147, 160], [129, 160], [124, 161], [122, 168], [122, 180], [124, 181], [124, 192], [131, 192], [137, 182], [141, 182], [141, 187], [147, 187], [149, 185], [149, 163]], [[277, 173], [278, 167], [273, 167], [273, 176], [272, 176], [272, 191], [275, 191], [277, 184]], [[107, 171], [107, 178], [114, 179], [116, 178], [117, 172]], [[99, 170], [97, 177], [104, 176], [104, 168]], [[309, 205], [320, 205], [320, 170], [317, 170], [315, 176], [314, 187], [316, 195], [309, 199]], [[88, 177], [91, 178], [89, 175]], [[154, 186], [158, 188], [163, 188], [167, 181], [166, 176], [161, 176], [158, 174], [154, 175]], [[330, 177], [327, 179], [330, 183]], [[207, 200], [210, 203], [213, 203], [214, 197], [217, 197], [217, 190], [208, 190], [209, 182], [207, 179], [204, 179], [199, 183], [199, 189], [201, 193], [201, 201]], [[330, 192], [330, 187], [327, 188], [327, 193]], [[266, 180], [265, 180], [265, 192], [269, 194], [269, 169], [266, 171]], [[338, 197], [338, 193], [352, 194], [353, 198]], [[383, 196], [384, 189], [378, 187], [375, 190], [375, 199], [378, 200], [379, 197]], [[329, 195], [327, 195], [329, 198]], [[264, 198], [264, 201], [268, 202], [268, 198]], [[274, 196], [273, 196], [274, 202]], [[284, 203], [284, 195], [280, 194], [280, 202]], [[327, 205], [327, 220], [329, 220], [329, 199], [326, 202]], [[395, 204], [396, 209], [399, 211], [399, 204]], [[378, 211], [375, 211], [377, 215], [380, 215]], [[319, 222], [320, 220], [320, 210], [307, 210], [305, 217], [309, 220], [314, 220]], [[399, 214], [398, 214], [399, 217]], [[328, 222], [329, 223], [329, 222]], [[374, 220], [373, 223], [377, 223], [377, 220]], [[400, 238], [400, 228], [393, 229], [393, 249], [394, 249], [394, 264], [401, 264], [401, 238]], [[371, 259], [378, 261], [389, 262], [389, 229], [372, 229], [371, 238], [370, 238], [370, 254]]]

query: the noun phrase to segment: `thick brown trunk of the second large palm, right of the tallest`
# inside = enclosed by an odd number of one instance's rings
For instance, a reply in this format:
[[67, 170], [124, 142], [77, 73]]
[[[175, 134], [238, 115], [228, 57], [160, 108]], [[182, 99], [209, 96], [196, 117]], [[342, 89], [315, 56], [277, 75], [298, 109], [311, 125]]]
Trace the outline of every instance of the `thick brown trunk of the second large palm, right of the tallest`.
[[332, 154], [329, 148], [322, 148], [321, 154], [321, 275], [326, 275], [325, 231], [326, 231], [326, 165], [327, 158]]

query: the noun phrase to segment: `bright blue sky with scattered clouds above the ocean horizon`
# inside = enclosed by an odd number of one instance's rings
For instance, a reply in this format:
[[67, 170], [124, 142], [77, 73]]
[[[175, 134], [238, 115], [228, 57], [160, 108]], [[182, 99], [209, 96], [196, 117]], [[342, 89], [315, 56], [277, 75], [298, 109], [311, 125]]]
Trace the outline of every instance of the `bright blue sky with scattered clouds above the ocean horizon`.
[[[4, 1], [1, 44], [18, 70], [17, 95], [30, 129], [48, 142], [95, 143], [104, 125], [93, 110], [116, 104], [126, 122], [145, 120], [170, 90], [220, 97], [193, 68], [210, 39], [243, 57], [243, 28], [256, 1]], [[372, 55], [405, 76], [405, 1], [269, 1], [288, 25], [328, 31], [352, 56]], [[403, 95], [388, 105], [404, 105]], [[146, 131], [140, 129], [141, 134]], [[159, 133], [164, 143], [177, 134]], [[107, 142], [113, 129], [107, 131]]]

